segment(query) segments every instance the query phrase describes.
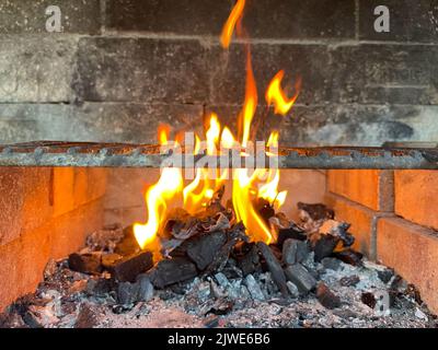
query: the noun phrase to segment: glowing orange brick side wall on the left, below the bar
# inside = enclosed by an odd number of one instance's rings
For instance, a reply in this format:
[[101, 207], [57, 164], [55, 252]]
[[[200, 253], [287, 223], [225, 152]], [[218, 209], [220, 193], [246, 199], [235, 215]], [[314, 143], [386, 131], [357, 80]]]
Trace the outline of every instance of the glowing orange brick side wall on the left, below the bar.
[[0, 311], [102, 226], [105, 170], [0, 168]]

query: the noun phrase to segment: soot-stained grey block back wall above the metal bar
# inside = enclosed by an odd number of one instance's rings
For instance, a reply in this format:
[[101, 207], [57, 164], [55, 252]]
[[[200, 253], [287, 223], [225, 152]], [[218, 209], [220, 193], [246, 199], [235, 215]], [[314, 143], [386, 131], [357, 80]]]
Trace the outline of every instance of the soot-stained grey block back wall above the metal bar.
[[[198, 130], [211, 109], [235, 127], [244, 49], [218, 39], [232, 4], [0, 1], [0, 142], [155, 142], [159, 122]], [[381, 4], [390, 33], [373, 30]], [[46, 32], [48, 5], [61, 10], [62, 33]], [[291, 115], [268, 115], [263, 129], [298, 145], [436, 141], [437, 18], [430, 0], [249, 1], [261, 110], [278, 70], [288, 91], [303, 81]]]

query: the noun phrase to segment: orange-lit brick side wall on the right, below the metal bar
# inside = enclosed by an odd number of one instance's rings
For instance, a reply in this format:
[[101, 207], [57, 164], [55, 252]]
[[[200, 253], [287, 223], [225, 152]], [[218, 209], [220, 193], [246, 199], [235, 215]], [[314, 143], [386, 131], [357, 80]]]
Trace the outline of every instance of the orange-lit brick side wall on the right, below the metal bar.
[[438, 172], [330, 171], [326, 201], [355, 248], [393, 267], [438, 312]]

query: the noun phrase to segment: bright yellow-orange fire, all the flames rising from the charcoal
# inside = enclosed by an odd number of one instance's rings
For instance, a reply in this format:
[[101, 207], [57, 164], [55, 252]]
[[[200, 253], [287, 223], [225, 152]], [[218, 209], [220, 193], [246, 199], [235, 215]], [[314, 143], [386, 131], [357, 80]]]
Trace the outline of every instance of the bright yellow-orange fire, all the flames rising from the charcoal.
[[[235, 25], [241, 21], [245, 0], [238, 0], [226, 25], [223, 26], [220, 42], [223, 47], [229, 47]], [[293, 106], [300, 90], [300, 81], [297, 81], [295, 95], [290, 98], [281, 88], [285, 72], [280, 70], [270, 81], [266, 90], [266, 102], [268, 107], [274, 105], [275, 114], [286, 115]], [[240, 145], [240, 154], [247, 155], [244, 148], [249, 147], [252, 140], [252, 121], [256, 114], [258, 104], [257, 88], [251, 60], [250, 46], [246, 45], [246, 85], [245, 98], [242, 110], [238, 118], [238, 138], [234, 138], [228, 127], [222, 127], [219, 116], [211, 113], [207, 118], [205, 140], [196, 135], [194, 154], [220, 155], [223, 150], [235, 149]], [[161, 144], [169, 144], [170, 128], [160, 126], [159, 141]], [[181, 138], [183, 139], [183, 138]], [[266, 147], [269, 151], [267, 156], [274, 156], [278, 149], [279, 133], [273, 131]], [[168, 208], [175, 203], [178, 198], [183, 200], [183, 209], [192, 215], [196, 215], [214, 200], [215, 194], [226, 184], [230, 171], [207, 167], [197, 167], [192, 182], [184, 186], [183, 172], [181, 168], [166, 167], [162, 171], [157, 184], [151, 186], [146, 194], [146, 205], [148, 210], [148, 221], [146, 224], [136, 223], [134, 225], [135, 236], [138, 244], [143, 249], [154, 253], [160, 249], [160, 230], [166, 220]], [[275, 232], [272, 232], [266, 219], [258, 212], [260, 200], [263, 199], [275, 210], [278, 210], [286, 201], [287, 191], [279, 191], [280, 172], [278, 168], [255, 168], [247, 167], [234, 168], [232, 174], [231, 201], [235, 215], [235, 222], [242, 222], [246, 228], [246, 233], [252, 241], [263, 241], [267, 244], [274, 241]], [[158, 255], [159, 256], [159, 255]]]

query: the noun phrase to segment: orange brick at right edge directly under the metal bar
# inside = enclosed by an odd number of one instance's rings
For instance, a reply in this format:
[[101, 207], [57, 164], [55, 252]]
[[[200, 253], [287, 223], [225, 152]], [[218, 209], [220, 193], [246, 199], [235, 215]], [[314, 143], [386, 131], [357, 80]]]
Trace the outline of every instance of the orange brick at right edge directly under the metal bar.
[[395, 213], [438, 230], [438, 172], [395, 171]]

